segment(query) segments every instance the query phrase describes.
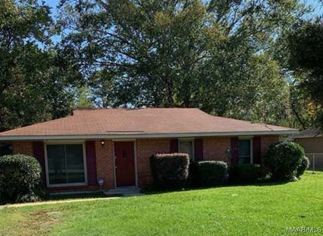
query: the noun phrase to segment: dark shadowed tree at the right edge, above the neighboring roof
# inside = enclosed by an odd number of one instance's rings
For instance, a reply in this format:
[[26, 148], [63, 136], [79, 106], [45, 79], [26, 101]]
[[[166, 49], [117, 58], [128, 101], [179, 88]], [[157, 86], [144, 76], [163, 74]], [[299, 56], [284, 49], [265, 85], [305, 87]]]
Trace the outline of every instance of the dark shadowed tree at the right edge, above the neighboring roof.
[[[294, 76], [293, 112], [302, 128], [323, 127], [323, 20], [300, 21], [287, 36], [287, 65]], [[303, 110], [303, 112], [301, 111]]]

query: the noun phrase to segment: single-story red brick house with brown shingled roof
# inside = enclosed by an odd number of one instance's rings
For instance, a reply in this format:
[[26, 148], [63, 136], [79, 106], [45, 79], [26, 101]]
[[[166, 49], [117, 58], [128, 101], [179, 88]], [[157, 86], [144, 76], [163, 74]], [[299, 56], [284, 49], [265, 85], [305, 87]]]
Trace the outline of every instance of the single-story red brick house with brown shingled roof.
[[149, 157], [259, 163], [268, 146], [296, 130], [209, 115], [197, 108], [75, 109], [62, 119], [0, 133], [13, 153], [40, 162], [50, 191], [145, 187]]

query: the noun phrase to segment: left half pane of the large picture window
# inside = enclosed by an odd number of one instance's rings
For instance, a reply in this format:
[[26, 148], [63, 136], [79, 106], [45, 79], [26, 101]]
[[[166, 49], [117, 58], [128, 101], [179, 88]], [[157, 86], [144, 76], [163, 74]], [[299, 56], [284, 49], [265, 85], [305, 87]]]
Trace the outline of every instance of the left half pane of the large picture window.
[[66, 184], [64, 145], [47, 145], [49, 184]]

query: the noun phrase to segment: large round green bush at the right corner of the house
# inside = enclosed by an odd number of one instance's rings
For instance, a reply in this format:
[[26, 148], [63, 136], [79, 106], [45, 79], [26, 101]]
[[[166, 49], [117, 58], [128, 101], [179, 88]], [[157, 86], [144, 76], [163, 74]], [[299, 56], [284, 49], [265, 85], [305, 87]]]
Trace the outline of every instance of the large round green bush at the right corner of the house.
[[282, 141], [270, 145], [264, 164], [271, 169], [275, 181], [295, 179], [297, 168], [304, 156], [304, 149], [297, 143]]

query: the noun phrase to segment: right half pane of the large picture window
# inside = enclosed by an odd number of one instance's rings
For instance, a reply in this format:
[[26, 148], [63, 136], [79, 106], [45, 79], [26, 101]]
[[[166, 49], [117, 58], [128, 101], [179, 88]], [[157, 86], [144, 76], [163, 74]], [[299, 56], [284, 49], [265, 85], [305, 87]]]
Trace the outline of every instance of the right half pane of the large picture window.
[[67, 183], [84, 183], [82, 144], [66, 145]]

